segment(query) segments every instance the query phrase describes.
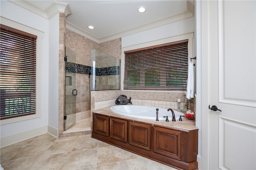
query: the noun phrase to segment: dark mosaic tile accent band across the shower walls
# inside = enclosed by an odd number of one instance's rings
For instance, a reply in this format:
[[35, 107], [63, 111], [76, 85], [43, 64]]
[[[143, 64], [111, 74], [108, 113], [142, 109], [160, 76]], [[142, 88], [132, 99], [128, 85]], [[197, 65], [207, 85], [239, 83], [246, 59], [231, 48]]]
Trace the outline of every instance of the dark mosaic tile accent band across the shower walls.
[[[119, 66], [96, 68], [96, 76], [119, 75], [119, 70], [120, 70]], [[82, 64], [66, 62], [65, 71], [70, 73], [91, 75], [92, 67], [85, 66]]]

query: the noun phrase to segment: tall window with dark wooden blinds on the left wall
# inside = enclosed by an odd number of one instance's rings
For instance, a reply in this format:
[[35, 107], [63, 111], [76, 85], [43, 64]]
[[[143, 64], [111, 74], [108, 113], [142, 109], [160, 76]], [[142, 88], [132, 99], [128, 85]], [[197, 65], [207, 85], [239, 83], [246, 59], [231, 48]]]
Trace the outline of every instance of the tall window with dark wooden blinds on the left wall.
[[0, 28], [0, 119], [35, 114], [37, 36]]

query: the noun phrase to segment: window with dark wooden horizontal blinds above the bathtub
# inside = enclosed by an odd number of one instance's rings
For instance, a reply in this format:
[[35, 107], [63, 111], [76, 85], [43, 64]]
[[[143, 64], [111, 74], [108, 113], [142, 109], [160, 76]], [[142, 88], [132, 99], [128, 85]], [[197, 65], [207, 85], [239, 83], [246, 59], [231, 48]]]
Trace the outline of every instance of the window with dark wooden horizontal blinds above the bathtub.
[[186, 90], [188, 39], [124, 55], [124, 90]]

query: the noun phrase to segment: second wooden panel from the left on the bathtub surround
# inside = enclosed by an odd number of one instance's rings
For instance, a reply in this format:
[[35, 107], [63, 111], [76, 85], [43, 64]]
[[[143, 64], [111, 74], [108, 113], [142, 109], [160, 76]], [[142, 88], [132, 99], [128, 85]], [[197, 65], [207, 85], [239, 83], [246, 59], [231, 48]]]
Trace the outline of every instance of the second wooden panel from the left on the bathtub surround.
[[109, 136], [127, 143], [127, 121], [110, 117]]

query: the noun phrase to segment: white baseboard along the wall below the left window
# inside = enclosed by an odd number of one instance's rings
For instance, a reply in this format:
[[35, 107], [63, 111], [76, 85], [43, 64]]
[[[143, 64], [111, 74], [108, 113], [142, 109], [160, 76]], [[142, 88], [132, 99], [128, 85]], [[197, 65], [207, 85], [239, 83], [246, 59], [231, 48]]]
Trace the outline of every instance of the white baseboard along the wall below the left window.
[[[42, 126], [42, 127], [38, 127], [36, 129], [31, 129], [29, 131], [25, 131], [25, 132], [21, 132], [21, 133], [17, 133], [15, 135], [10, 135], [7, 137], [2, 137], [0, 139], [0, 148], [2, 147], [6, 147], [8, 145], [12, 145], [14, 143], [20, 142], [20, 141], [24, 141], [26, 139], [30, 139], [32, 137], [36, 137], [38, 135], [42, 135], [44, 133], [47, 133], [47, 125]], [[58, 136], [58, 135], [57, 135]]]

